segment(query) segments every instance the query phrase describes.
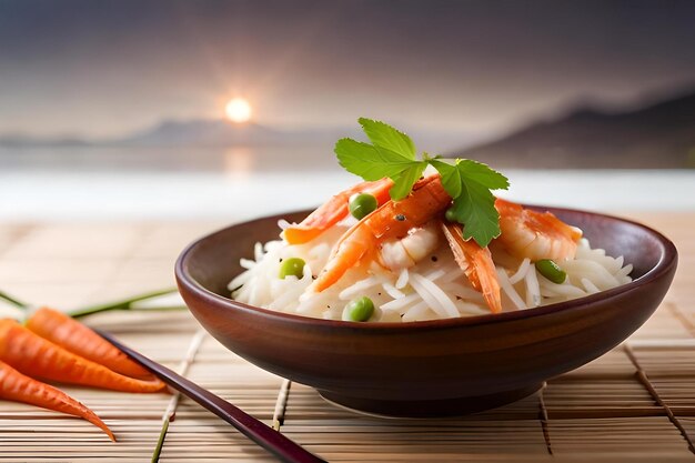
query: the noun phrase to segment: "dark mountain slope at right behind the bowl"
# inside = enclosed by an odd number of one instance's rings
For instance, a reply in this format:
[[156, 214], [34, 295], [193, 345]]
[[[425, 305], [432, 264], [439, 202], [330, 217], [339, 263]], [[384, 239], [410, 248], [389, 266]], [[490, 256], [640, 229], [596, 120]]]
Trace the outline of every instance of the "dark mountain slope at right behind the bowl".
[[695, 92], [624, 112], [583, 108], [463, 155], [503, 168], [695, 168]]

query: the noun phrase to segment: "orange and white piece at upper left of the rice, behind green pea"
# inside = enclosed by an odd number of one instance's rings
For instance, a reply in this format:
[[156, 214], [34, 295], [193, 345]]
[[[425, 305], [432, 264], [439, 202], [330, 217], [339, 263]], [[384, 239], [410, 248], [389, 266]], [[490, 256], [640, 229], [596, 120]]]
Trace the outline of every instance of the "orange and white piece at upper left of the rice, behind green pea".
[[369, 193], [376, 198], [376, 203], [381, 205], [389, 201], [391, 187], [393, 187], [391, 179], [357, 183], [331, 198], [301, 223], [285, 229], [284, 239], [290, 244], [306, 243], [348, 217], [350, 197], [355, 193]]

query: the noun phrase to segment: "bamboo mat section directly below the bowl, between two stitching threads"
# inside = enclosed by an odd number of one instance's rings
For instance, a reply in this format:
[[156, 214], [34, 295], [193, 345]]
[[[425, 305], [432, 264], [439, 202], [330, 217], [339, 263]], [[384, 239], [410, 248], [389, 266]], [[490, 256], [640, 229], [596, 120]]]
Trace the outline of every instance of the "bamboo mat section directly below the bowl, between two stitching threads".
[[[281, 431], [329, 461], [451, 461], [469, 455], [547, 456], [537, 395], [449, 420], [383, 420], [328, 406], [293, 384]], [[369, 456], [366, 456], [369, 455]]]

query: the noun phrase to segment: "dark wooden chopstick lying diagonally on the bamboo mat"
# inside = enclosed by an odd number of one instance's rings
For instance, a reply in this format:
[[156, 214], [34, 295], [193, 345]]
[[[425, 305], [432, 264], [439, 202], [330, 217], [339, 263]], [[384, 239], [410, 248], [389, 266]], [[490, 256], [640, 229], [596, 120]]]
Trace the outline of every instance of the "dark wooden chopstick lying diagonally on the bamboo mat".
[[141, 353], [121, 344], [109, 333], [99, 331], [99, 334], [128, 354], [128, 356], [133, 359], [135, 362], [151, 371], [160, 380], [210, 410], [212, 413], [236, 427], [239, 432], [244, 434], [246, 437], [251, 439], [270, 453], [273, 453], [280, 460], [292, 463], [325, 463], [325, 460], [321, 460], [316, 455], [304, 450], [301, 445], [241, 411], [222, 397], [199, 386], [192, 381], [187, 380], [180, 374], [169, 370], [167, 366], [160, 365]]

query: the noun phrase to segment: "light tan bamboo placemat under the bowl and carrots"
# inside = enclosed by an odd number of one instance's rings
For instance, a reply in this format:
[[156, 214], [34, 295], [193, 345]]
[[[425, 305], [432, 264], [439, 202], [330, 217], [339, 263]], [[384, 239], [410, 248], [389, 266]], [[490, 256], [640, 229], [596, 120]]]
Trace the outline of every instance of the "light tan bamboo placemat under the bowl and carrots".
[[[229, 352], [187, 312], [104, 313], [88, 323], [329, 461], [695, 461], [695, 213], [632, 217], [663, 231], [681, 254], [675, 283], [652, 319], [623, 345], [538, 393], [461, 419], [383, 420], [335, 407]], [[0, 288], [68, 309], [170, 286], [183, 245], [221, 225], [3, 225]], [[119, 442], [82, 420], [0, 401], [1, 461], [273, 461], [188, 399], [63, 389], [92, 407]]]

